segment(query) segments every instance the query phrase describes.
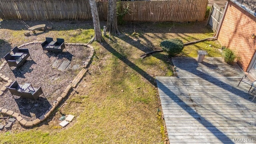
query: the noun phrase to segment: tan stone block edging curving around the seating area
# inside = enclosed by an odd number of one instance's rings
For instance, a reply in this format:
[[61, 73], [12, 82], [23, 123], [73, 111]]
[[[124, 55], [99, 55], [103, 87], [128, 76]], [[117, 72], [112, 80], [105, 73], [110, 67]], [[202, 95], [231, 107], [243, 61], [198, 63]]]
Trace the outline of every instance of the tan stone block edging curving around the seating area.
[[[22, 46], [27, 46], [29, 44], [40, 44], [42, 42], [29, 42], [26, 44], [22, 44], [20, 46], [18, 46], [18, 48], [22, 47]], [[50, 113], [54, 111], [54, 109], [58, 106], [58, 104], [61, 102], [62, 99], [64, 99], [67, 95], [68, 92], [70, 91], [71, 88], [75, 88], [78, 83], [82, 80], [84, 74], [87, 72], [88, 69], [86, 69], [86, 67], [88, 66], [89, 62], [92, 59], [92, 56], [94, 55], [94, 48], [89, 45], [89, 44], [78, 44], [78, 43], [65, 43], [65, 45], [76, 45], [76, 46], [86, 46], [88, 48], [91, 49], [90, 52], [90, 56], [88, 57], [88, 59], [86, 60], [86, 62], [84, 62], [83, 66], [82, 66], [82, 70], [80, 70], [80, 72], [76, 75], [76, 77], [74, 78], [74, 80], [72, 81], [71, 84], [69, 84], [66, 89], [64, 90], [64, 92], [54, 101], [54, 103], [50, 106], [50, 108], [48, 108], [48, 110], [39, 118], [36, 118], [33, 121], [26, 121], [24, 120], [20, 114], [13, 112], [12, 110], [7, 110], [5, 108], [1, 108], [0, 107], [0, 112], [2, 114], [7, 114], [8, 116], [13, 116], [17, 119], [17, 121], [23, 125], [23, 126], [34, 126], [36, 124], [39, 124], [40, 122], [44, 121], [46, 118], [48, 118], [48, 116], [50, 116]], [[4, 61], [1, 65], [0, 65], [0, 70], [4, 67], [4, 65], [7, 62]], [[5, 84], [1, 90], [0, 90], [0, 96], [2, 96], [4, 94], [4, 91], [7, 89], [5, 86], [10, 86], [10, 84], [12, 83], [12, 80], [10, 80], [10, 78], [4, 76], [3, 74], [0, 73], [0, 78], [3, 79], [4, 81], [7, 82], [7, 84]]]

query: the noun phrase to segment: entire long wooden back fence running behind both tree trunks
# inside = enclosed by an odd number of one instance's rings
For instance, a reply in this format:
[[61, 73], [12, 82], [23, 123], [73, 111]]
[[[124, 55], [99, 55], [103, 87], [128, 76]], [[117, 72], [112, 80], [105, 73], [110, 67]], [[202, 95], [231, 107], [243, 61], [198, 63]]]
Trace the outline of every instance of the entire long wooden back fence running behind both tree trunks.
[[[96, 2], [100, 20], [107, 20], [108, 2]], [[121, 2], [129, 6], [126, 21], [202, 21], [208, 0], [154, 0]], [[88, 0], [0, 0], [2, 19], [90, 20]]]

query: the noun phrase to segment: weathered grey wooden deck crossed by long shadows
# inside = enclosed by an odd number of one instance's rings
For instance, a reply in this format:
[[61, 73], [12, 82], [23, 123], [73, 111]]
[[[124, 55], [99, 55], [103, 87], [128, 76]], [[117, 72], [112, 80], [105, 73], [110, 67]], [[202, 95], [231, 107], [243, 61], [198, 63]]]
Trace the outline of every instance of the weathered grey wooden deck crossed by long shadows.
[[255, 144], [256, 104], [244, 72], [222, 58], [173, 58], [178, 77], [156, 77], [170, 144]]

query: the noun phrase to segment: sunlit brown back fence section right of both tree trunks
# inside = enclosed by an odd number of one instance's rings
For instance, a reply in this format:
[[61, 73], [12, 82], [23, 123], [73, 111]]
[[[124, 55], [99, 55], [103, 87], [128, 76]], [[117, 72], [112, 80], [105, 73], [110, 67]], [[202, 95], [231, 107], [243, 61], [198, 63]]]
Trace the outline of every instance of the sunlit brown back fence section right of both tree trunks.
[[135, 1], [129, 3], [129, 14], [124, 20], [144, 22], [184, 22], [202, 21], [208, 0], [154, 0]]

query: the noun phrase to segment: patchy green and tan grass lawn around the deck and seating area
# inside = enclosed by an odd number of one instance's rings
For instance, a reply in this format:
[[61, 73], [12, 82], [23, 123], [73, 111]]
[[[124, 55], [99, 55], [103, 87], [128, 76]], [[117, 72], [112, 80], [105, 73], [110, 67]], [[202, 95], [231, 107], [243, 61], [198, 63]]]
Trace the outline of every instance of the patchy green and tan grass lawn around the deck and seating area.
[[[65, 42], [87, 43], [94, 34], [92, 28], [86, 25], [79, 32], [76, 27], [60, 27], [41, 36], [54, 34], [65, 38]], [[92, 43], [95, 55], [77, 93], [72, 92], [38, 126], [25, 128], [16, 124], [12, 130], [0, 131], [0, 143], [165, 143], [164, 120], [161, 112], [157, 114], [161, 106], [155, 76], [173, 76], [172, 61], [164, 52], [144, 59], [140, 55], [160, 49], [160, 42], [168, 38], [179, 38], [186, 43], [212, 37], [213, 32], [205, 27], [205, 22], [128, 23], [119, 28], [121, 36], [104, 37], [106, 41], [101, 44]], [[24, 32], [5, 31], [12, 37], [3, 39], [12, 44]], [[21, 39], [18, 44], [35, 41], [37, 37]], [[196, 57], [196, 50], [207, 50], [208, 56], [219, 57], [218, 49], [218, 41], [200, 42], [184, 47], [179, 56]], [[73, 114], [75, 118], [61, 128], [58, 125], [61, 114]]]

